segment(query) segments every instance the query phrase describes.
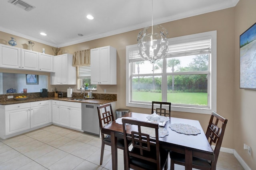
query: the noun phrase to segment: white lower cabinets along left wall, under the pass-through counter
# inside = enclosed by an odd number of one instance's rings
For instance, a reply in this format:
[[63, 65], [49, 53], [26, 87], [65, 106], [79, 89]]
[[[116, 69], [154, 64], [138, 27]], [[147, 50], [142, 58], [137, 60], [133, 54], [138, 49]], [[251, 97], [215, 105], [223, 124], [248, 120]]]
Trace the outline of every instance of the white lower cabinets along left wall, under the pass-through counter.
[[0, 138], [6, 139], [50, 125], [49, 101], [0, 105]]

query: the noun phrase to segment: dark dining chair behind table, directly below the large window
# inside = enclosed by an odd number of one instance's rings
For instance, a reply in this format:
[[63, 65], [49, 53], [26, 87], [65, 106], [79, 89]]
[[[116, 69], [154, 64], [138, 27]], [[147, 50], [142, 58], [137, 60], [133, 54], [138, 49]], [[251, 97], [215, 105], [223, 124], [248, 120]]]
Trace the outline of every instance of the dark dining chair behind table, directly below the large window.
[[[163, 105], [168, 106], [168, 110], [163, 108]], [[169, 102], [152, 102], [151, 114], [156, 111], [156, 114], [171, 117], [171, 103]]]

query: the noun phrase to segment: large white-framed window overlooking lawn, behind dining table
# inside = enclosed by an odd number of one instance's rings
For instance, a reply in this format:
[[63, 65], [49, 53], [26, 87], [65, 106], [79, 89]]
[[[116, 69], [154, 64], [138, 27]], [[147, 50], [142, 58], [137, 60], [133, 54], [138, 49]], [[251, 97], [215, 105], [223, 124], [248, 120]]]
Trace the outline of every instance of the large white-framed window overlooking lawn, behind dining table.
[[126, 47], [126, 106], [151, 108], [171, 102], [172, 110], [216, 110], [216, 31], [168, 39], [166, 58], [143, 61], [137, 45]]

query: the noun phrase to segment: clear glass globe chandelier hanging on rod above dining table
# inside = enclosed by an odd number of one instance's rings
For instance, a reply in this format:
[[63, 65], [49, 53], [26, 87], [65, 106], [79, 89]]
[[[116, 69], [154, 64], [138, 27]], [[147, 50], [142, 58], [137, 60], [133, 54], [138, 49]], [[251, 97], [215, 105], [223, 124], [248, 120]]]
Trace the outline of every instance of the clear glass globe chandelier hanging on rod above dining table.
[[152, 26], [143, 28], [137, 37], [139, 55], [143, 60], [155, 63], [163, 59], [168, 51], [168, 32], [161, 25], [153, 25], [153, 0], [152, 0]]

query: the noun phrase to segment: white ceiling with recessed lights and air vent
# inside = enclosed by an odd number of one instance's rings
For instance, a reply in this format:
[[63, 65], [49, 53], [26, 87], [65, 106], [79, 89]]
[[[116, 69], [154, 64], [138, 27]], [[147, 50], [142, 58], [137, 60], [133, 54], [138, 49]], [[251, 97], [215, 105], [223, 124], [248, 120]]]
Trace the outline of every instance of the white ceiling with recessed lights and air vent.
[[[36, 8], [27, 12], [8, 0], [0, 0], [0, 31], [54, 47], [140, 29], [150, 26], [152, 21], [151, 0], [22, 1]], [[154, 0], [153, 24], [230, 8], [238, 1]], [[94, 20], [88, 20], [87, 14], [94, 16]], [[78, 33], [84, 36], [80, 37]]]

